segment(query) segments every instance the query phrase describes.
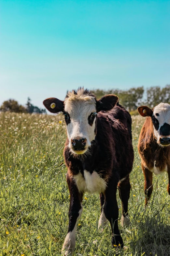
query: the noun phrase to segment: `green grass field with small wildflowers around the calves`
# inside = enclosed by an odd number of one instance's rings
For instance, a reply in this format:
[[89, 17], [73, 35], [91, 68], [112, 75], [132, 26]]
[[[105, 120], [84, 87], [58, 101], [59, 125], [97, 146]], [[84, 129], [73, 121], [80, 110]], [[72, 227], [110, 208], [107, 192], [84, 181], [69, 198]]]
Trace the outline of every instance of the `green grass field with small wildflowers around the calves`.
[[[99, 195], [85, 194], [73, 255], [170, 255], [167, 174], [154, 176], [152, 198], [144, 208], [144, 177], [137, 152], [143, 122], [139, 115], [133, 117], [132, 225], [128, 229], [120, 226], [125, 247], [112, 249], [109, 225], [103, 233], [98, 231]], [[63, 164], [65, 138], [61, 115], [0, 114], [0, 256], [60, 255], [69, 207]]]

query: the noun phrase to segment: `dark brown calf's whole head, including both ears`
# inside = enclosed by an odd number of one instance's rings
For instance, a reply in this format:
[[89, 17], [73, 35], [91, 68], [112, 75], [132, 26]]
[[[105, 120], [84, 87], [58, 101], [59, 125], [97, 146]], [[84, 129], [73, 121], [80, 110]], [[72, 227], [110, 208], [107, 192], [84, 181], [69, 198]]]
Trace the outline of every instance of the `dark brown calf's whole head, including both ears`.
[[64, 101], [48, 98], [44, 106], [52, 113], [63, 112], [69, 140], [69, 148], [74, 154], [84, 154], [96, 135], [97, 113], [111, 110], [118, 102], [113, 94], [97, 100], [95, 95], [79, 88], [68, 92]]

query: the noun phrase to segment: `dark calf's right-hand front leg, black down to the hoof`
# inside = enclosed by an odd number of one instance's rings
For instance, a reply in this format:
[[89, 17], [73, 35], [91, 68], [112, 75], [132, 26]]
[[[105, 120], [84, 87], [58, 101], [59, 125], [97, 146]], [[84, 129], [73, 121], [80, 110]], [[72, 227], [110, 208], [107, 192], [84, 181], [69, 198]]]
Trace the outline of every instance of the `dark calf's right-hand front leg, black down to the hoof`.
[[116, 191], [117, 191], [116, 181], [112, 179], [111, 182], [107, 183], [107, 188], [105, 190], [105, 203], [104, 203], [104, 213], [108, 221], [111, 225], [112, 230], [112, 246], [121, 246], [123, 247], [123, 240], [120, 236], [119, 228], [118, 228], [118, 216], [119, 209], [116, 199]]

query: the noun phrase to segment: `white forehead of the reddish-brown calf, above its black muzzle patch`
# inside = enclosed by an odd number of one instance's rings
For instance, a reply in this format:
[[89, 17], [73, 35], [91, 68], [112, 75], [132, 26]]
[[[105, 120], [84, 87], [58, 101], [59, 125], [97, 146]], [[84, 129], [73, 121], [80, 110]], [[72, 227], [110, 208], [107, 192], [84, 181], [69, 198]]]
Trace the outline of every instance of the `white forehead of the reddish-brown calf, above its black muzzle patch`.
[[170, 124], [170, 105], [168, 103], [160, 103], [154, 108], [153, 115], [158, 119], [160, 127], [164, 123]]

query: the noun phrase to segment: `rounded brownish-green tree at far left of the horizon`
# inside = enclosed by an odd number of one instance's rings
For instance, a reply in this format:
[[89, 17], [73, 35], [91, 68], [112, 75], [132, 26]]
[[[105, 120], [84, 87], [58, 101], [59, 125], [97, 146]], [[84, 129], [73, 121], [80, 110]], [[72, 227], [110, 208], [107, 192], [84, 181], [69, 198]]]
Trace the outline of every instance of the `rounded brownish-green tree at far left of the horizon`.
[[0, 111], [6, 112], [16, 112], [16, 113], [26, 113], [27, 110], [22, 105], [19, 105], [18, 102], [14, 99], [9, 99], [3, 102], [0, 107]]

